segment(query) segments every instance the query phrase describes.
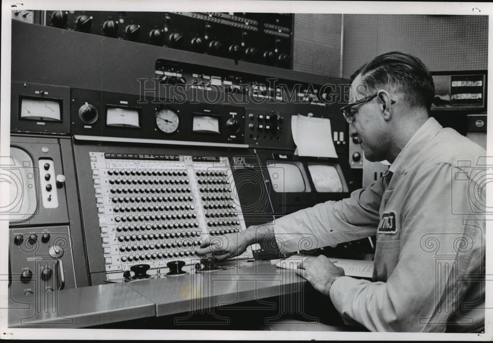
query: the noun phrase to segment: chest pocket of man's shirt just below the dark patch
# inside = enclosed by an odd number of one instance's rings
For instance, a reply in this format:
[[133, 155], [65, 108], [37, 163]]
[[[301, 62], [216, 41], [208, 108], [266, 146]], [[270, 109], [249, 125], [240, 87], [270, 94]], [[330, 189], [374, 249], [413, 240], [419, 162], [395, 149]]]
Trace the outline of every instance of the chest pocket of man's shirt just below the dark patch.
[[385, 234], [377, 236], [374, 259], [375, 269], [373, 271], [374, 280], [387, 281], [387, 278], [397, 265], [399, 253], [400, 240], [389, 239], [388, 235]]

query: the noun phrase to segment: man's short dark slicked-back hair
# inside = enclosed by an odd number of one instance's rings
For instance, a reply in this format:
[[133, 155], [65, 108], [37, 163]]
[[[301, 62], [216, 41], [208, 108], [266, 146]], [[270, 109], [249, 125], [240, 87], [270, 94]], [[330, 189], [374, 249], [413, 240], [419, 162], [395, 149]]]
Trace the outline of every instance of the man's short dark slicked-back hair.
[[404, 95], [409, 106], [426, 107], [429, 114], [435, 86], [430, 71], [419, 58], [398, 51], [387, 52], [361, 66], [350, 81], [359, 74], [368, 91], [390, 85]]

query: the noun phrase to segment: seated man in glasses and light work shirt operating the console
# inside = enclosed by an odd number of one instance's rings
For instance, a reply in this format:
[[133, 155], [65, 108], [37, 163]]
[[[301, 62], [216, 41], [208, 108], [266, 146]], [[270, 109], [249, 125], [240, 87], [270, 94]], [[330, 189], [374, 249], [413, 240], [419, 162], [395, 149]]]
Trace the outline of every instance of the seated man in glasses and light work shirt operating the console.
[[[373, 281], [344, 275], [325, 256], [297, 274], [330, 298], [344, 322], [370, 331], [481, 332], [485, 321], [484, 149], [429, 117], [434, 85], [416, 57], [390, 52], [351, 77], [342, 107], [369, 161], [389, 171], [365, 189], [205, 240], [219, 260], [275, 237], [282, 253], [377, 236]], [[330, 135], [330, 133], [328, 133]], [[484, 178], [483, 178], [484, 179]]]

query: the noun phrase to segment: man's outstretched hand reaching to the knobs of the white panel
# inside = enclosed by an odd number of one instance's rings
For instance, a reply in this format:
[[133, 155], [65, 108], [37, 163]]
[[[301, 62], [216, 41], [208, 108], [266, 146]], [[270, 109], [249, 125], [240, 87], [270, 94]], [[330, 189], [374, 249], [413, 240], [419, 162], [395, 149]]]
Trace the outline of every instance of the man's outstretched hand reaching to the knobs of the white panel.
[[248, 246], [248, 240], [241, 232], [209, 237], [200, 244], [197, 255], [213, 254], [218, 261], [241, 255]]

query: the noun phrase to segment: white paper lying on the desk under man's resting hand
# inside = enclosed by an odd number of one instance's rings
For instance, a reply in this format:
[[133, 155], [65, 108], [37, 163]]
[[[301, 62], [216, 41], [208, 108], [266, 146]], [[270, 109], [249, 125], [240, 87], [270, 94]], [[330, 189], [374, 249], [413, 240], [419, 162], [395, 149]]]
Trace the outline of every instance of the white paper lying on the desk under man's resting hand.
[[[285, 260], [276, 263], [278, 268], [297, 269], [298, 263], [306, 259], [308, 256], [294, 255]], [[367, 277], [373, 276], [373, 261], [368, 260], [348, 260], [344, 258], [329, 258], [337, 267], [344, 269], [344, 274], [348, 276]]]

